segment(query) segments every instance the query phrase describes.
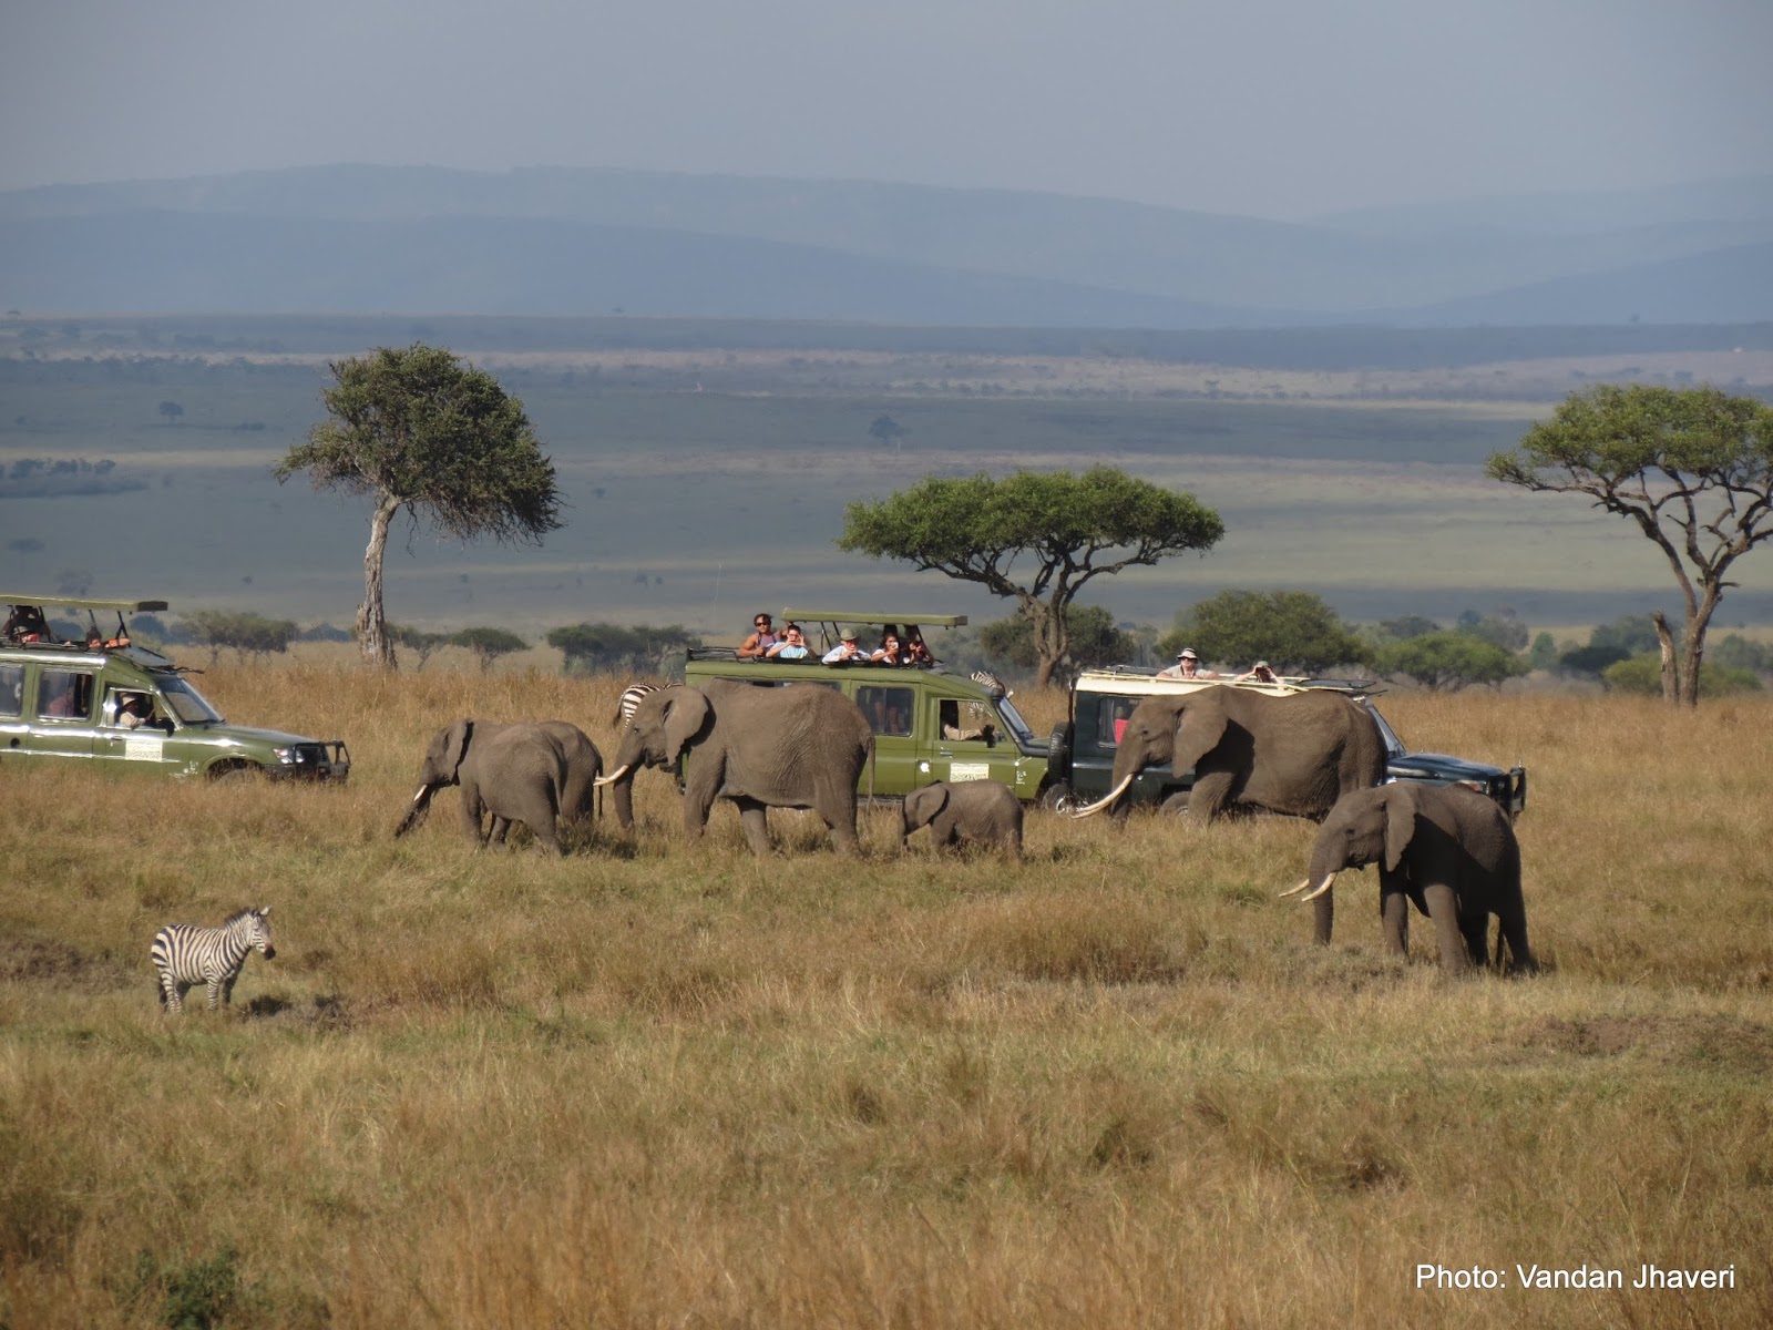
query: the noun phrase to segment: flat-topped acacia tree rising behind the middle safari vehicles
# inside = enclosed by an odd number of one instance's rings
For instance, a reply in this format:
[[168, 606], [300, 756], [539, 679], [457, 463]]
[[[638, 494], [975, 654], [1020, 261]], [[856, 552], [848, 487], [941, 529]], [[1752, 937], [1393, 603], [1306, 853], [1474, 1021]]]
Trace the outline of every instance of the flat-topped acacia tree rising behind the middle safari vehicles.
[[1083, 475], [1016, 472], [1002, 481], [984, 472], [927, 475], [878, 504], [851, 504], [837, 546], [1012, 598], [1034, 635], [1035, 683], [1044, 688], [1071, 647], [1071, 601], [1092, 578], [1209, 550], [1223, 534], [1218, 514], [1193, 495], [1092, 466]]

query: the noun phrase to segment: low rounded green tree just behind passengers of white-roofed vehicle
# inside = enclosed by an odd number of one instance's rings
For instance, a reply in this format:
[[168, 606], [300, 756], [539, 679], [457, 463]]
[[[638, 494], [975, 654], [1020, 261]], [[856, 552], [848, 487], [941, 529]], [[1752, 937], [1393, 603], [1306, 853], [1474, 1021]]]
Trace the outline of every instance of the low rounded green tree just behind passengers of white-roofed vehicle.
[[1163, 656], [1183, 647], [1241, 669], [1266, 660], [1280, 674], [1317, 674], [1371, 660], [1367, 645], [1308, 591], [1222, 591], [1197, 601], [1158, 640]]

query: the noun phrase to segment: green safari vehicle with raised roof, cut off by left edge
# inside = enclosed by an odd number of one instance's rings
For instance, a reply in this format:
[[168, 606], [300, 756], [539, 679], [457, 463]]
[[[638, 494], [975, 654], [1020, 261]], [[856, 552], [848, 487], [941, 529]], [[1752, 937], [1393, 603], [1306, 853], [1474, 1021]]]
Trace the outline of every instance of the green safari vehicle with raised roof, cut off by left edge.
[[[66, 642], [43, 605], [87, 612], [90, 631]], [[105, 601], [0, 594], [11, 617], [0, 631], [0, 764], [82, 761], [96, 770], [168, 777], [344, 780], [344, 739], [305, 739], [227, 724], [186, 670], [129, 640], [126, 614], [165, 601]], [[115, 612], [117, 630], [98, 628]]]

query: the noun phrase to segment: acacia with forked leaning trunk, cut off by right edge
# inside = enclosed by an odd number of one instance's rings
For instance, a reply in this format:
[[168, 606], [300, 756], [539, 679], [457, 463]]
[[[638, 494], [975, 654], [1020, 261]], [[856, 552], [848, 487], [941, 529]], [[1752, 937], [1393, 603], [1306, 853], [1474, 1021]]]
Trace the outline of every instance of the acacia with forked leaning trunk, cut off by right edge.
[[1686, 622], [1675, 640], [1654, 615], [1663, 699], [1699, 704], [1706, 626], [1725, 573], [1773, 536], [1773, 408], [1718, 388], [1603, 383], [1571, 394], [1489, 475], [1523, 489], [1576, 493], [1631, 518], [1668, 559]]

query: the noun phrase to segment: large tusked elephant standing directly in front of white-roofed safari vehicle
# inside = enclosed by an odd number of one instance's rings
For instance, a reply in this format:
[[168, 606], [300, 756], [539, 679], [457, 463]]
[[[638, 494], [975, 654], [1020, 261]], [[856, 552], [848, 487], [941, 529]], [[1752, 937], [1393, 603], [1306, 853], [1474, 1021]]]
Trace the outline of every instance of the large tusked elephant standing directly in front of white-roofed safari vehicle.
[[[1385, 780], [1385, 736], [1371, 711], [1328, 690], [1277, 697], [1218, 685], [1152, 693], [1128, 716], [1106, 798], [1078, 816], [1113, 809], [1133, 777], [1161, 763], [1177, 778], [1193, 768], [1190, 816], [1213, 821], [1229, 807], [1250, 807], [1319, 819], [1347, 791]], [[1335, 897], [1314, 904], [1330, 936]]]

